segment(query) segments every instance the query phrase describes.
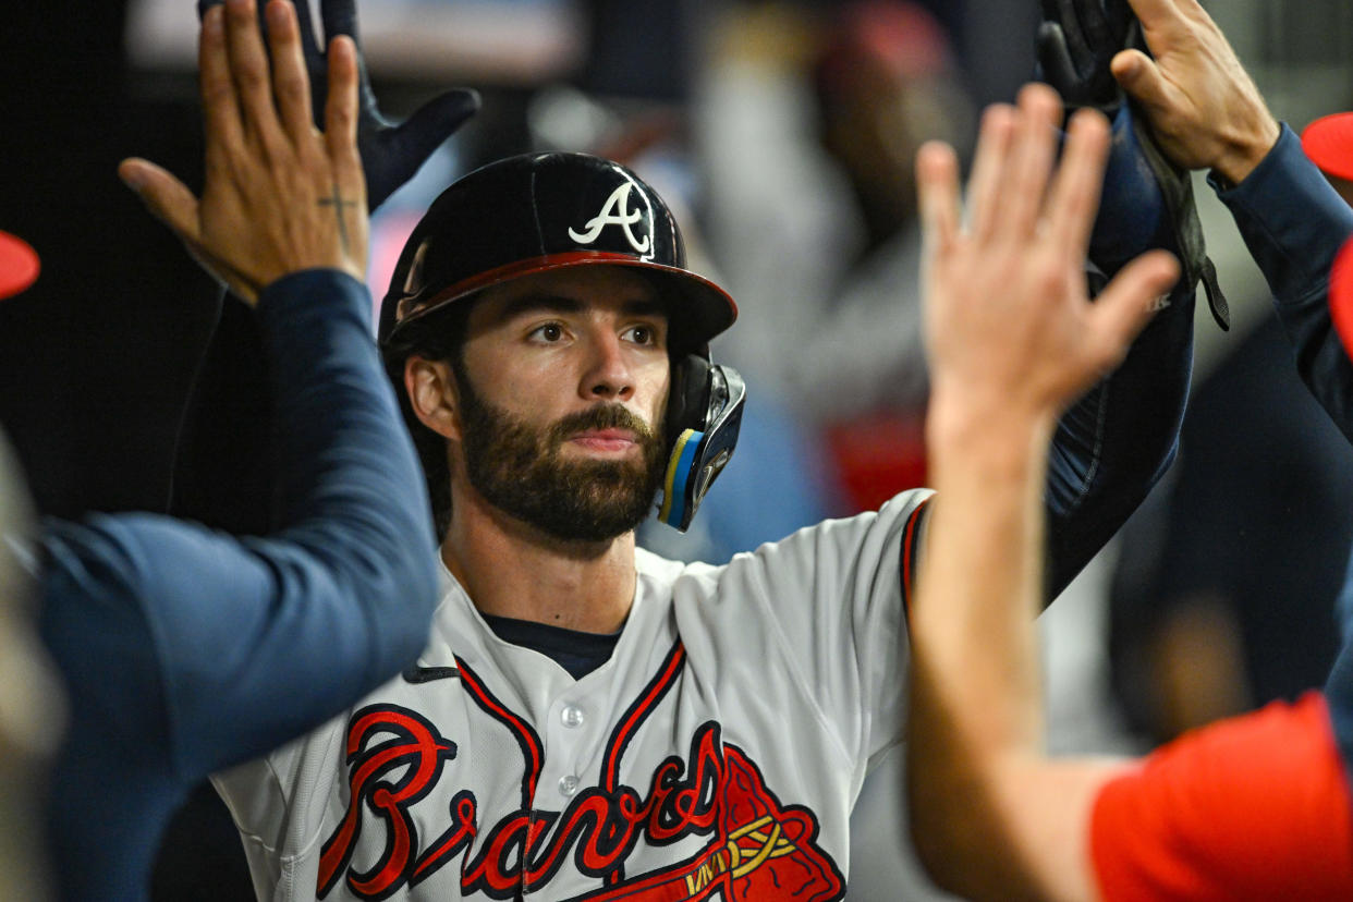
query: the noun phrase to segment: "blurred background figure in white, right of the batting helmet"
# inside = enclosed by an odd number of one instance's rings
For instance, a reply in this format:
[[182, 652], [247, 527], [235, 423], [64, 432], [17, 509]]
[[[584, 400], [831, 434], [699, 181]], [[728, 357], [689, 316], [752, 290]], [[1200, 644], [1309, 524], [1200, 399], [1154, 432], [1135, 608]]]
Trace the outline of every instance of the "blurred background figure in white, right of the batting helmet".
[[944, 27], [915, 3], [731, 8], [695, 107], [705, 216], [743, 323], [716, 350], [823, 442], [842, 513], [924, 481], [916, 147], [970, 142]]

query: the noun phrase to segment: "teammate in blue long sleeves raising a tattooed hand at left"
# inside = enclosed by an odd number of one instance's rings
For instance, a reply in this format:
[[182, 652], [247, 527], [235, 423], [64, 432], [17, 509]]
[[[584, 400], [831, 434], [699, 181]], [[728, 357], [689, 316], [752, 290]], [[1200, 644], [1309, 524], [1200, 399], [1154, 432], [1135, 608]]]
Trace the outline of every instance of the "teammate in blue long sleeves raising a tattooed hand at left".
[[436, 603], [426, 495], [369, 338], [356, 49], [331, 45], [319, 133], [295, 12], [267, 12], [271, 74], [253, 3], [203, 19], [202, 197], [143, 160], [119, 173], [254, 307], [281, 523], [256, 538], [153, 514], [43, 525], [41, 633], [70, 715], [46, 806], [62, 898], [143, 898], [189, 787], [398, 673]]

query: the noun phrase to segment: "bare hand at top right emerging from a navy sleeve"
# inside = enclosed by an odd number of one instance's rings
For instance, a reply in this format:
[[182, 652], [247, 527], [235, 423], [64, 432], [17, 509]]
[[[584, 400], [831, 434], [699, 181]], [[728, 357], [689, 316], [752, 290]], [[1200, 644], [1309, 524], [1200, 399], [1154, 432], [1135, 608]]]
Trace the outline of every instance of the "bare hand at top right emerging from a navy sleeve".
[[1239, 183], [1280, 134], [1277, 120], [1197, 0], [1131, 0], [1154, 60], [1123, 50], [1114, 77], [1141, 104], [1165, 154]]

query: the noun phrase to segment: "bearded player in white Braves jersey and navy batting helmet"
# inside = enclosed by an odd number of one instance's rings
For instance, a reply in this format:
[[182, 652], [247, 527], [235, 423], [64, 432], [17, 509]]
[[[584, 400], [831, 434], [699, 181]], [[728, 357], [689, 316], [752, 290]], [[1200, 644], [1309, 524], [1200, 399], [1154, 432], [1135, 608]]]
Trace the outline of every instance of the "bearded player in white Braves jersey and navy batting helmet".
[[[1173, 452], [1192, 293], [1057, 430], [1054, 591]], [[706, 349], [733, 318], [617, 164], [511, 157], [432, 204], [380, 341], [441, 603], [414, 667], [214, 776], [260, 898], [843, 898], [855, 797], [902, 742], [930, 494], [723, 567], [637, 549], [733, 450], [746, 385]]]

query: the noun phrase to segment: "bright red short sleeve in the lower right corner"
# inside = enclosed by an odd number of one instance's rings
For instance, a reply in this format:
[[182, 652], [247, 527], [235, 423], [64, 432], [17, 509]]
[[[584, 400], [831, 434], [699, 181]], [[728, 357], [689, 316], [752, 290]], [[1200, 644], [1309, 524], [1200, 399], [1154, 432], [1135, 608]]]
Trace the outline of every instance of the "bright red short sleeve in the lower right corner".
[[1107, 783], [1091, 856], [1107, 902], [1353, 899], [1353, 805], [1325, 698], [1193, 730]]

